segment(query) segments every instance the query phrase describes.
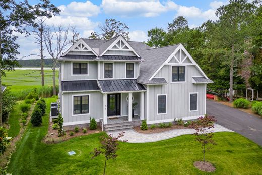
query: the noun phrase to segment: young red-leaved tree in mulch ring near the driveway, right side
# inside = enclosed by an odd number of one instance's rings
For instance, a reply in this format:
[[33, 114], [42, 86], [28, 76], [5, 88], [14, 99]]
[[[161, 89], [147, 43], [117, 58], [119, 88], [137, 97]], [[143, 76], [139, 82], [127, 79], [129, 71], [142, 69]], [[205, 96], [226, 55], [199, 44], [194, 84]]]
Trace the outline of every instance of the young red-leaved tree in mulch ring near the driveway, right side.
[[197, 131], [194, 133], [195, 140], [199, 141], [202, 145], [204, 164], [205, 152], [206, 150], [211, 149], [211, 147], [208, 147], [208, 144], [216, 145], [216, 142], [212, 139], [213, 130], [211, 130], [212, 128], [214, 128], [214, 122], [216, 122], [214, 116], [205, 115], [204, 117], [201, 116], [200, 118], [198, 118], [197, 121], [193, 121], [192, 124], [189, 126], [190, 128], [193, 128]]

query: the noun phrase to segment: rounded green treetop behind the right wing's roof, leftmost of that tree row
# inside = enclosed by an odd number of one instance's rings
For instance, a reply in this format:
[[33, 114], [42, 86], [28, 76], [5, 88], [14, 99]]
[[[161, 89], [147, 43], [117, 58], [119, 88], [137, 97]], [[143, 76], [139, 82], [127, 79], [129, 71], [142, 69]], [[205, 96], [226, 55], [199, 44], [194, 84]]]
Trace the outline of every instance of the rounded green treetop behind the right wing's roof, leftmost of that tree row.
[[162, 28], [155, 27], [148, 31], [148, 41], [147, 44], [151, 47], [161, 47], [165, 44], [166, 32]]

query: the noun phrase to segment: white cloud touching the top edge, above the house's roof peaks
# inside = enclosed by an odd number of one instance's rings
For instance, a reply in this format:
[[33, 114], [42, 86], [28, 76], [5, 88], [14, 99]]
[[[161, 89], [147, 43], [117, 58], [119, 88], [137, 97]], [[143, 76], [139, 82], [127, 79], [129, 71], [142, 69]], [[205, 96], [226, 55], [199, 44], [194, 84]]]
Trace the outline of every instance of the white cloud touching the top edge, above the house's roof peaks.
[[103, 0], [101, 7], [106, 14], [110, 15], [154, 17], [160, 13], [174, 10], [177, 4], [172, 1], [161, 3], [159, 0]]

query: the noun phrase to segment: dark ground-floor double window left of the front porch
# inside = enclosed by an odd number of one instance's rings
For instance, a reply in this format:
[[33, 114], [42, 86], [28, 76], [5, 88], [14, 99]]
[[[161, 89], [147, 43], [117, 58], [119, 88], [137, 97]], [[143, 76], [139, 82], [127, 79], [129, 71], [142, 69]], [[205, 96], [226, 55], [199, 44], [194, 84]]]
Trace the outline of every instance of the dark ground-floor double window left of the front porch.
[[89, 113], [89, 95], [73, 97], [73, 114], [88, 114]]

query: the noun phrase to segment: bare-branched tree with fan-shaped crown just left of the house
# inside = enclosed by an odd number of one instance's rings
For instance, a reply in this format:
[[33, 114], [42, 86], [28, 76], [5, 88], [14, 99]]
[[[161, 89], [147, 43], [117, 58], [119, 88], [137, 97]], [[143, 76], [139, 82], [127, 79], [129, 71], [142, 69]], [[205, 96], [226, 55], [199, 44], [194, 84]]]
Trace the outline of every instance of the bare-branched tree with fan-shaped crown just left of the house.
[[53, 95], [56, 95], [56, 64], [58, 57], [62, 54], [62, 51], [67, 47], [67, 45], [70, 43], [68, 40], [68, 31], [70, 26], [63, 27], [62, 25], [59, 25], [58, 27], [55, 27], [52, 25], [52, 27], [47, 28], [44, 32], [44, 38], [45, 38], [45, 46], [47, 49], [47, 52], [53, 59], [53, 64], [51, 66], [53, 70]]

